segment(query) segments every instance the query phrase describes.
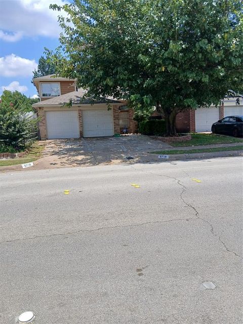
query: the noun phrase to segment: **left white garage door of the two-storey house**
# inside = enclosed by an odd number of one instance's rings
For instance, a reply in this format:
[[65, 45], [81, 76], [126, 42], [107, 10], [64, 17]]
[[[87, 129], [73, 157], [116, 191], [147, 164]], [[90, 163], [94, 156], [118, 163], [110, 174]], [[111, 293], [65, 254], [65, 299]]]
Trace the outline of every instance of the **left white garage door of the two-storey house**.
[[78, 138], [77, 111], [47, 111], [47, 138]]

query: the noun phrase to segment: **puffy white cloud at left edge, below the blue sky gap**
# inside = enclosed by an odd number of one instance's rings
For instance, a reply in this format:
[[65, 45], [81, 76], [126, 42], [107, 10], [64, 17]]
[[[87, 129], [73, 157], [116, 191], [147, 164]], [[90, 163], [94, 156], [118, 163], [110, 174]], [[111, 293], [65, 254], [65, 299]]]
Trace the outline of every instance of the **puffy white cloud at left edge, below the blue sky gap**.
[[36, 68], [35, 60], [28, 60], [15, 54], [0, 57], [1, 76], [32, 76], [32, 71]]

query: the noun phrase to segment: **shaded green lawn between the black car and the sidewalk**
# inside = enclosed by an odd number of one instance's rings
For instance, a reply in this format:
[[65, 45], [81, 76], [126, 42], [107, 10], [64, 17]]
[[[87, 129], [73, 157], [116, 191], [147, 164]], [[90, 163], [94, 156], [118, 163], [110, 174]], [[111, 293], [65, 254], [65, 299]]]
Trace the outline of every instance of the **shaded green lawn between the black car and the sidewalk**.
[[190, 141], [170, 143], [172, 146], [197, 146], [209, 144], [240, 143], [242, 138], [217, 134], [192, 133]]

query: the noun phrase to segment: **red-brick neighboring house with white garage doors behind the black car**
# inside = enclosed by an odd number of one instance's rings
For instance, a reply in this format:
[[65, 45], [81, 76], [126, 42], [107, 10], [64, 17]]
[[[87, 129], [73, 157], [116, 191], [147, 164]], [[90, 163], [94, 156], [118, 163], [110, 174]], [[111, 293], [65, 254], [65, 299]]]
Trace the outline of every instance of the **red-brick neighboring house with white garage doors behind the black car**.
[[[239, 98], [239, 104], [236, 99]], [[243, 116], [242, 96], [225, 98], [220, 107], [190, 109], [180, 112], [176, 116], [176, 128], [178, 132], [211, 132], [212, 124], [225, 116]]]

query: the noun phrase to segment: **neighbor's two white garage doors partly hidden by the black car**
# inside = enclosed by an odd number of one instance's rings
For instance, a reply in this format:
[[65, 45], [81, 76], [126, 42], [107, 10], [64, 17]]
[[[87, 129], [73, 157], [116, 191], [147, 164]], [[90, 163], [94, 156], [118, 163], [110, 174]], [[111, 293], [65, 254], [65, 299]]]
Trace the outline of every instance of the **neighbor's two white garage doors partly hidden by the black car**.
[[[224, 106], [224, 117], [231, 115], [243, 115], [243, 107]], [[195, 130], [196, 132], [211, 132], [212, 124], [220, 119], [219, 108], [199, 108], [195, 111]]]

